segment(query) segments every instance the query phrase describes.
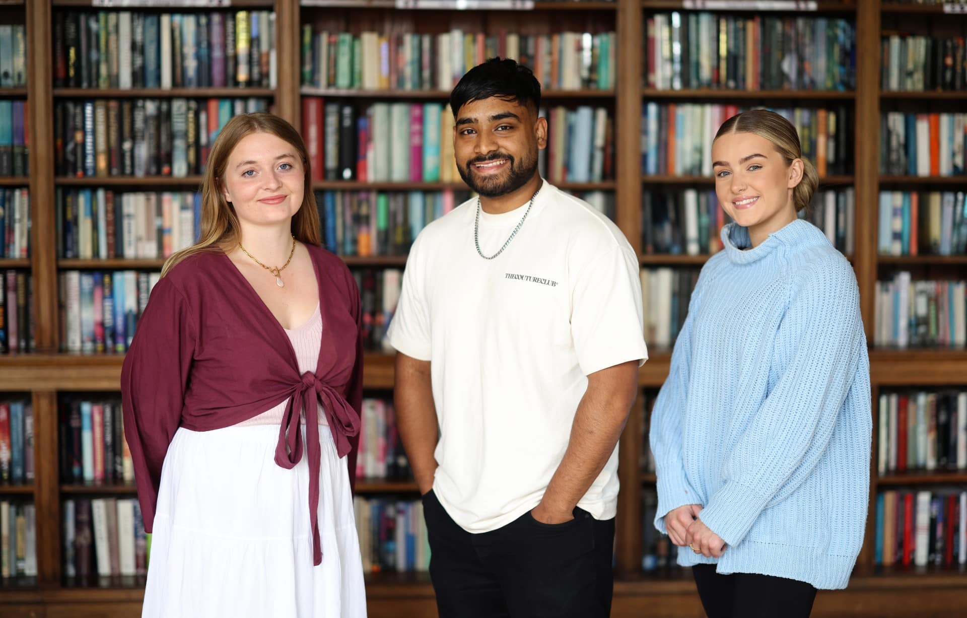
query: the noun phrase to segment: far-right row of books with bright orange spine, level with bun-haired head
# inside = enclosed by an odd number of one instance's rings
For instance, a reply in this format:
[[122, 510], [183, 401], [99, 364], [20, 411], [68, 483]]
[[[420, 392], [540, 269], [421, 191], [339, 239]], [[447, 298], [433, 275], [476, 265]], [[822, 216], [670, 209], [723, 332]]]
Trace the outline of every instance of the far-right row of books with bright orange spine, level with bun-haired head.
[[967, 113], [887, 112], [880, 120], [880, 172], [909, 176], [967, 174]]

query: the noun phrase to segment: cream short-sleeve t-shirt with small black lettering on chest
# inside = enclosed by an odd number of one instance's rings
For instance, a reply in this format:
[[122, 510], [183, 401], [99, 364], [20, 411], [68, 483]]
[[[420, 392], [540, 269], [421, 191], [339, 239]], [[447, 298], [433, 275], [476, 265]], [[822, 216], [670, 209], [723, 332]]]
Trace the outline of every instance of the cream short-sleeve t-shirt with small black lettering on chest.
[[[481, 213], [485, 255], [527, 210]], [[468, 532], [495, 530], [536, 507], [568, 447], [587, 375], [643, 363], [638, 259], [618, 227], [544, 181], [495, 259], [474, 245], [473, 198], [420, 233], [389, 339], [430, 362], [440, 427], [434, 492]], [[578, 506], [615, 515], [615, 448]]]

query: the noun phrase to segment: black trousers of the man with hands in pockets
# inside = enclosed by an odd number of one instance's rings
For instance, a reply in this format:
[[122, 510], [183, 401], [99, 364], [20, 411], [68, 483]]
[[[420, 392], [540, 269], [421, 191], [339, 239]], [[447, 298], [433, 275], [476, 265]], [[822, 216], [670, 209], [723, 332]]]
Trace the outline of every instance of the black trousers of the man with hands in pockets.
[[429, 574], [440, 618], [606, 618], [614, 519], [581, 509], [562, 524], [525, 513], [471, 534], [430, 491], [424, 496]]

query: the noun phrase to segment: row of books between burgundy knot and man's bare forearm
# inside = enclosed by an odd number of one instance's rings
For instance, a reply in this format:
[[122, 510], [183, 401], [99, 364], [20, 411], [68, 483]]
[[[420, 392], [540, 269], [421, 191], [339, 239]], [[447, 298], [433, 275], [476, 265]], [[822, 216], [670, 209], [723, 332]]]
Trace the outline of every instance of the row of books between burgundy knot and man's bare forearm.
[[396, 431], [393, 400], [366, 397], [360, 416], [363, 433], [360, 434], [359, 456], [356, 459], [356, 478], [391, 481], [411, 479], [413, 474]]

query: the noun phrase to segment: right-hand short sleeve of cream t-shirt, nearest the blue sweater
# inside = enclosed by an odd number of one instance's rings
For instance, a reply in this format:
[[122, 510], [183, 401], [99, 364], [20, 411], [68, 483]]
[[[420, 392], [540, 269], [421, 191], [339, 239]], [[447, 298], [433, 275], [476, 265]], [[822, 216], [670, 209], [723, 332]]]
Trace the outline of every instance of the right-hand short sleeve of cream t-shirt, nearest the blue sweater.
[[612, 247], [581, 268], [571, 288], [571, 337], [585, 375], [648, 359], [641, 303], [630, 250]]

